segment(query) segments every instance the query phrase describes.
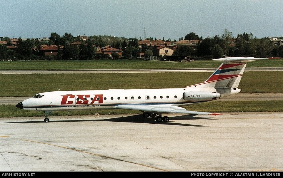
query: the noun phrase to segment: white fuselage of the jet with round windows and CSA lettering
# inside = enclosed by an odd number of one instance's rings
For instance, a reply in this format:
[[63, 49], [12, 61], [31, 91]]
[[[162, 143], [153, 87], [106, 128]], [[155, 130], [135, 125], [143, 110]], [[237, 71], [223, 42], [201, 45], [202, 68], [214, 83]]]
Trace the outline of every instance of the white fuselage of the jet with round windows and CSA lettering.
[[[194, 92], [192, 99], [183, 99], [184, 92]], [[110, 89], [82, 91], [54, 91], [35, 95], [22, 102], [25, 110], [63, 111], [115, 109], [120, 104], [185, 106], [214, 99], [203, 98], [202, 92], [216, 89]], [[194, 95], [194, 96], [193, 96]], [[217, 99], [220, 98], [217, 97]]]

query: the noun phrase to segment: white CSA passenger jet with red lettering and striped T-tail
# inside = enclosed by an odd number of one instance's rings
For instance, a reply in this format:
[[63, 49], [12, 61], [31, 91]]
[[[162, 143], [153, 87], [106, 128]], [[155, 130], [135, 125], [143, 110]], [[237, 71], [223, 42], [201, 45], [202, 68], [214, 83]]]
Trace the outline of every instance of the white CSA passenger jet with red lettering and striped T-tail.
[[157, 122], [168, 122], [164, 113], [191, 115], [219, 115], [213, 112], [189, 111], [180, 106], [194, 105], [217, 100], [239, 93], [239, 82], [247, 62], [271, 59], [253, 57], [227, 57], [212, 59], [223, 63], [202, 83], [184, 88], [162, 89], [109, 89], [81, 91], [52, 91], [36, 94], [16, 105], [24, 110], [44, 111], [44, 122], [49, 122], [46, 114], [52, 111], [70, 110], [140, 110], [144, 117], [156, 117]]

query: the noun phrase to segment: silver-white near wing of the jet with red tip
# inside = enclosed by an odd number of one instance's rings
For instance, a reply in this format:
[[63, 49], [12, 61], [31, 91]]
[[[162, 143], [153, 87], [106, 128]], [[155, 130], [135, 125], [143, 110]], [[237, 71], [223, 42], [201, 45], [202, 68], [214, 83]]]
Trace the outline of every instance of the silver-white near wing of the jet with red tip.
[[181, 113], [181, 114], [201, 114], [201, 115], [221, 115], [219, 113], [212, 112], [199, 112], [189, 111], [179, 106], [161, 106], [161, 105], [144, 105], [144, 104], [121, 104], [115, 107], [116, 109], [130, 109], [130, 110], [141, 110], [144, 112], [153, 113]]

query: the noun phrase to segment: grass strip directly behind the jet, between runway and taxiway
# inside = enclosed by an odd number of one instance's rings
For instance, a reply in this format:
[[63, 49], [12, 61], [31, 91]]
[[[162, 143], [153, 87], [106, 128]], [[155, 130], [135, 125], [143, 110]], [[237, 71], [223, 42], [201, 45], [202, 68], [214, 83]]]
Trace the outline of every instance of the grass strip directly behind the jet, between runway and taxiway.
[[[184, 88], [211, 73], [0, 74], [0, 97], [34, 96], [47, 91]], [[242, 93], [282, 93], [282, 71], [244, 72]]]

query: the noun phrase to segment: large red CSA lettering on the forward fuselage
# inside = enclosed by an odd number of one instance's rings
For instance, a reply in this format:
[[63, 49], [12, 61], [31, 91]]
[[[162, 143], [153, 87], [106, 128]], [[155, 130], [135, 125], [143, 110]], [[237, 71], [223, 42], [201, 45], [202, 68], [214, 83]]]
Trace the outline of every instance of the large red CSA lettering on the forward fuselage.
[[94, 104], [94, 102], [96, 101], [98, 101], [99, 104], [103, 103], [103, 95], [61, 95], [61, 96], [63, 97], [61, 100], [61, 105], [71, 105], [74, 103], [75, 100], [77, 105]]

